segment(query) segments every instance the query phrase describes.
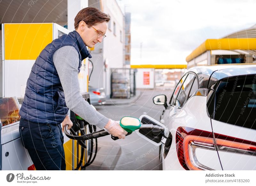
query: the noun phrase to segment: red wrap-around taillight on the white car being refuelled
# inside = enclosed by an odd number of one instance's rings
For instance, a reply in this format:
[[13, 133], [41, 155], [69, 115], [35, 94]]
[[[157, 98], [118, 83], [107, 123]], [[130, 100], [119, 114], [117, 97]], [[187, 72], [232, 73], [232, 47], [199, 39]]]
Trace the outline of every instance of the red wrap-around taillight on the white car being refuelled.
[[[214, 140], [215, 138], [215, 140]], [[256, 156], [256, 143], [189, 127], [176, 131], [176, 149], [181, 166], [185, 170], [213, 170], [196, 159], [196, 148], [225, 151]]]

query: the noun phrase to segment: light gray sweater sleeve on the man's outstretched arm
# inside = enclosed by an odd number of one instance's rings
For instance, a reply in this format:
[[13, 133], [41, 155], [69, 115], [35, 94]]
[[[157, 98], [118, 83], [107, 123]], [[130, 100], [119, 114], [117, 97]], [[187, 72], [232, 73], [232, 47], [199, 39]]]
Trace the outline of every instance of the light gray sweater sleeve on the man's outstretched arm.
[[95, 111], [80, 93], [78, 81], [79, 56], [73, 46], [63, 46], [53, 53], [67, 107], [92, 125], [105, 127], [108, 118]]

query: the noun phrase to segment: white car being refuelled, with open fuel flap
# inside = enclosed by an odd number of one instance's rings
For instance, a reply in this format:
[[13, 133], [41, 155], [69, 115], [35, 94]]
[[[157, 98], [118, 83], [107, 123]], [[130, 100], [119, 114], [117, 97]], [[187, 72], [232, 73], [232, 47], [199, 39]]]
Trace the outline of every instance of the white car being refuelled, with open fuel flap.
[[164, 105], [163, 170], [256, 170], [256, 65], [192, 67]]

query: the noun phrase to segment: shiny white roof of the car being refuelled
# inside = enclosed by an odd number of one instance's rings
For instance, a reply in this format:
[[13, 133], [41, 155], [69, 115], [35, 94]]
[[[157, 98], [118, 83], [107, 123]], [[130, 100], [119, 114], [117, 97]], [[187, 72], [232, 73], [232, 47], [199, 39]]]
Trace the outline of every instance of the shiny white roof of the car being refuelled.
[[[206, 82], [209, 81], [218, 81], [220, 79], [238, 76], [238, 75], [250, 75], [256, 74], [256, 64], [255, 65], [241, 65], [241, 64], [230, 64], [230, 65], [211, 65], [211, 66], [195, 66], [188, 69], [188, 72], [194, 72], [199, 77], [203, 77], [204, 83], [199, 82], [199, 87], [207, 88]], [[212, 84], [211, 82], [210, 84]]]

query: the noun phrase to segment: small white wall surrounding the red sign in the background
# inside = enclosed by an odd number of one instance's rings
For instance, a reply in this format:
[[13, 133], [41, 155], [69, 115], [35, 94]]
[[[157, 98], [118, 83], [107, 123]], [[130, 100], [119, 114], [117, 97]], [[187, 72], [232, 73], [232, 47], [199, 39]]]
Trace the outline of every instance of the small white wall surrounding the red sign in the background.
[[[144, 84], [144, 72], [149, 72], [149, 85]], [[154, 89], [155, 88], [155, 69], [154, 68], [138, 68], [136, 73], [136, 88]]]

